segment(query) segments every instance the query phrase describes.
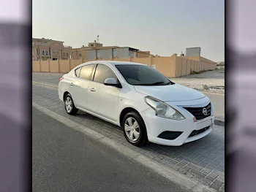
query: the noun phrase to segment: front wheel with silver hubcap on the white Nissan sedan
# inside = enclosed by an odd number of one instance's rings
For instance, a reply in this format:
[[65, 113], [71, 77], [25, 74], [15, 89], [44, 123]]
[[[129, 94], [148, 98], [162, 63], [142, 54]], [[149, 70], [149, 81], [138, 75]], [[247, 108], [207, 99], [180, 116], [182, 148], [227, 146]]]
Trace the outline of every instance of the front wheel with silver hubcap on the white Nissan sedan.
[[[135, 121], [137, 122], [138, 126], [136, 126], [137, 124], [135, 123]], [[137, 147], [146, 145], [146, 143], [148, 142], [146, 125], [143, 121], [143, 118], [140, 117], [138, 112], [128, 112], [126, 115], [124, 115], [121, 126], [124, 131], [124, 137], [129, 143]], [[129, 129], [132, 131], [132, 135]]]

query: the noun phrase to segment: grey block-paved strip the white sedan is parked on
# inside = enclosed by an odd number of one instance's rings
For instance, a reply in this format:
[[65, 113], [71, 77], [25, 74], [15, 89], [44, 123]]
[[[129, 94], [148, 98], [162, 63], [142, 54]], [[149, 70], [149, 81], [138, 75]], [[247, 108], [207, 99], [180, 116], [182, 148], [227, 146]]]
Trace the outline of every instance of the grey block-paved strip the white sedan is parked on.
[[199, 180], [201, 183], [224, 191], [225, 188], [225, 128], [215, 126], [207, 137], [191, 142], [181, 147], [167, 147], [149, 143], [139, 148], [130, 145], [124, 138], [121, 128], [113, 126], [86, 113], [70, 116], [64, 110], [64, 104], [59, 100], [57, 88], [33, 84], [33, 101], [59, 115], [69, 118], [83, 126], [91, 128], [100, 134], [125, 145], [132, 150], [158, 161], [169, 169], [174, 169], [187, 177]]

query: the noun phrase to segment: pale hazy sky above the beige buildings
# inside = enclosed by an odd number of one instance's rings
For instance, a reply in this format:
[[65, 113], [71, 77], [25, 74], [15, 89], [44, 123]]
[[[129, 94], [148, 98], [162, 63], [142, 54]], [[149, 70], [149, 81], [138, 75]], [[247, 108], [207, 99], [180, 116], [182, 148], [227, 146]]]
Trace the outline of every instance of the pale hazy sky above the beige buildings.
[[201, 56], [225, 60], [224, 0], [33, 1], [32, 35], [81, 47], [94, 42], [178, 55], [201, 47]]

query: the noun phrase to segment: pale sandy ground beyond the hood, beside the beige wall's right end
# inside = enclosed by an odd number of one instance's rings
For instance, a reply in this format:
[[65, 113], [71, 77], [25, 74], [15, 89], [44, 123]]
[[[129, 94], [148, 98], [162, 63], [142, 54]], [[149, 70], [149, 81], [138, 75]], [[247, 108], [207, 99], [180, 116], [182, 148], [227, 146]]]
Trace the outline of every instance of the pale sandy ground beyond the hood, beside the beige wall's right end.
[[[199, 91], [225, 94], [225, 69], [190, 74], [183, 77], [170, 78], [170, 80]], [[207, 85], [208, 89], [204, 88], [206, 87], [204, 85]]]

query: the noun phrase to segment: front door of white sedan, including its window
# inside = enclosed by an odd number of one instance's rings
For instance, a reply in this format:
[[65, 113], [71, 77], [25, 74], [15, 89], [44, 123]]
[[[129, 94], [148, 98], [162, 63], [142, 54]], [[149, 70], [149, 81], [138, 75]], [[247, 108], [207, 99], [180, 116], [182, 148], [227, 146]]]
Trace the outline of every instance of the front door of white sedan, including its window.
[[107, 78], [118, 78], [110, 67], [97, 64], [94, 78], [89, 82], [87, 105], [89, 111], [113, 120], [118, 120], [118, 96], [120, 88], [104, 85]]

